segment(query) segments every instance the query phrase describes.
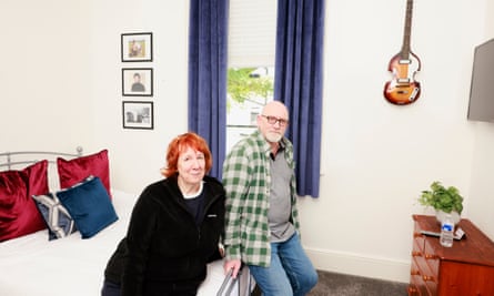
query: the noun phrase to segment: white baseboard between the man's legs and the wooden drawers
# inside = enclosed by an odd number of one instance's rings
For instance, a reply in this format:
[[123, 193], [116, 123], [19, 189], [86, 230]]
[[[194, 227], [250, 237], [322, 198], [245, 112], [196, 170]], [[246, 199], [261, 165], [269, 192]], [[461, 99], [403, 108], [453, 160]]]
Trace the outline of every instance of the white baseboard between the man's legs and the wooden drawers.
[[389, 258], [364, 257], [359, 254], [306, 248], [316, 269], [409, 283], [410, 262]]

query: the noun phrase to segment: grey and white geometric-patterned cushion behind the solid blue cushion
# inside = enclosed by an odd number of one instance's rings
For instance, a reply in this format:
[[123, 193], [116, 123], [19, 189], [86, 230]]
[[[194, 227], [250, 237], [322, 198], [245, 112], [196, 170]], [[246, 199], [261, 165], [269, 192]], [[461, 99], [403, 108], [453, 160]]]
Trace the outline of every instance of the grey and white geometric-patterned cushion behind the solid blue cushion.
[[69, 236], [77, 231], [74, 221], [69, 211], [60, 203], [57, 194], [33, 195], [32, 198], [48, 225], [49, 241]]

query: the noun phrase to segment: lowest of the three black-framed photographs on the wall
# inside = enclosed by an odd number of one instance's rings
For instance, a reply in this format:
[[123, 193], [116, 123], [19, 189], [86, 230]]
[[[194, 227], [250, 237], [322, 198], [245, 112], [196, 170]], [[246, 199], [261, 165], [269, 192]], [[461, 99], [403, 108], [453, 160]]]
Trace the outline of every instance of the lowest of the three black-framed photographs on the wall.
[[153, 102], [123, 101], [123, 129], [153, 129]]

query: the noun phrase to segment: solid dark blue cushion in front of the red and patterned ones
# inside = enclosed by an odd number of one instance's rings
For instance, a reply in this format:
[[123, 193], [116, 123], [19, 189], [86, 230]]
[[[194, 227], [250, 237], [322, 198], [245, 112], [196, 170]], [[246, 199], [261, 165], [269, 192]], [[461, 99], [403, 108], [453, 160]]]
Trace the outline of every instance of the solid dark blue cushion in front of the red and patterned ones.
[[89, 176], [74, 186], [58, 192], [57, 197], [69, 211], [82, 238], [90, 238], [119, 217], [98, 176]]

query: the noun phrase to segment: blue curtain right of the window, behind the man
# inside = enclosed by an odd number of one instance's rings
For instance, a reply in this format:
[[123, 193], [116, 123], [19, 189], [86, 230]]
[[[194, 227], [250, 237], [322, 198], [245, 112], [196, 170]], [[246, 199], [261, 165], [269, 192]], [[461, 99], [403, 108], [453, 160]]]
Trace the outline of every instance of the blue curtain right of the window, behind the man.
[[298, 194], [319, 196], [324, 0], [279, 0], [274, 98], [286, 104]]

